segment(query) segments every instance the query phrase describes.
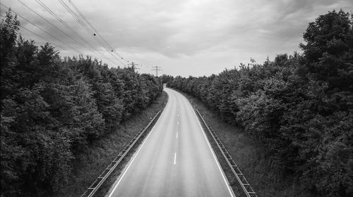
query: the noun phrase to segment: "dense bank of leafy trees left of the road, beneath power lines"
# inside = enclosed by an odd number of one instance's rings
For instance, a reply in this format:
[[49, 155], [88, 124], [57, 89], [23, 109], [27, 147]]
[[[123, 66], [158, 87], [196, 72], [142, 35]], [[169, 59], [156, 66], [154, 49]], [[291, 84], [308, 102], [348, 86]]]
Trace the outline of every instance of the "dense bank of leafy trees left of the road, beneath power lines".
[[50, 196], [90, 141], [161, 94], [162, 83], [134, 68], [90, 57], [61, 58], [50, 44], [18, 37], [11, 12], [1, 22], [1, 196]]

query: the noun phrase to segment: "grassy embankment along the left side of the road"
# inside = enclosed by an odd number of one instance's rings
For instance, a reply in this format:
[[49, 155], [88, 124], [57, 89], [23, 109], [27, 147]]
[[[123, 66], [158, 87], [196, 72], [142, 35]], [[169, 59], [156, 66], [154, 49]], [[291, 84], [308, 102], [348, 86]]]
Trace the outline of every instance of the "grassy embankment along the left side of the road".
[[[64, 189], [55, 193], [55, 196], [80, 196], [119, 154], [124, 146], [128, 144], [133, 136], [135, 136], [140, 129], [148, 125], [150, 119], [155, 116], [158, 110], [165, 106], [167, 100], [168, 96], [163, 91], [162, 95], [148, 108], [133, 115], [129, 120], [122, 122], [116, 132], [111, 132], [101, 139], [93, 141], [90, 146], [86, 147], [82, 153], [77, 155], [71, 180], [69, 180]], [[133, 152], [133, 150], [131, 152]], [[133, 154], [129, 153], [126, 155], [123, 161], [126, 163], [131, 155]], [[107, 184], [102, 185], [103, 188], [98, 191], [98, 196], [104, 196], [104, 192], [108, 191], [114, 179], [119, 176], [121, 169], [124, 168], [124, 162], [122, 163], [123, 165], [119, 165], [110, 175], [107, 179]]]

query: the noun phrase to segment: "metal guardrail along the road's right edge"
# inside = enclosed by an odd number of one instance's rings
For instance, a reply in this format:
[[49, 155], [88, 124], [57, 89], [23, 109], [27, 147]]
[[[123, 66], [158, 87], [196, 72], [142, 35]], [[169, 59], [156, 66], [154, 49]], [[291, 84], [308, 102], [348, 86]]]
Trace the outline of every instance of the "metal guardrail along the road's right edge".
[[255, 191], [251, 188], [249, 182], [246, 180], [244, 177], [244, 174], [241, 173], [239, 170], [238, 165], [234, 162], [232, 159], [232, 156], [228, 153], [227, 149], [225, 146], [222, 144], [222, 141], [220, 141], [220, 138], [218, 138], [217, 134], [215, 134], [215, 131], [213, 131], [212, 128], [208, 127], [206, 124], [205, 120], [203, 120], [203, 117], [201, 116], [201, 113], [195, 108], [196, 114], [198, 117], [202, 120], [203, 125], [205, 125], [206, 129], [208, 132], [210, 132], [210, 135], [213, 137], [215, 140], [218, 148], [220, 149], [220, 152], [222, 153], [223, 157], [227, 161], [229, 167], [232, 169], [232, 172], [234, 176], [237, 178], [241, 188], [243, 189], [244, 193], [246, 194], [247, 197], [257, 197]]

